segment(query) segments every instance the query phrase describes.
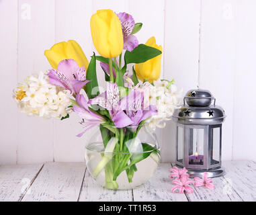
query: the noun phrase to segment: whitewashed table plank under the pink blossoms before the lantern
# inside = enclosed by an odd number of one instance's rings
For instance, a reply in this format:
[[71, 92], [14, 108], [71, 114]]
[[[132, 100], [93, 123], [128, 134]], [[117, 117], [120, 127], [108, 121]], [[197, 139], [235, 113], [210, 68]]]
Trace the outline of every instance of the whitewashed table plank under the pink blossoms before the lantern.
[[[175, 166], [174, 163], [172, 163]], [[231, 190], [228, 181], [224, 177], [216, 177], [212, 179], [215, 189], [206, 187], [194, 187], [194, 193], [185, 193], [189, 202], [240, 202], [242, 199], [234, 191]]]

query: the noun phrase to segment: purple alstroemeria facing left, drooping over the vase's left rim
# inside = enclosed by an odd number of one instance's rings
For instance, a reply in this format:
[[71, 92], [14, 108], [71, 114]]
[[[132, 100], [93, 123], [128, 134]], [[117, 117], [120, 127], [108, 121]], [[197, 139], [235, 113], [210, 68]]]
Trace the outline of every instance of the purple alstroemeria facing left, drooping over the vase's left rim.
[[82, 122], [80, 122], [80, 124], [85, 126], [85, 130], [80, 134], [77, 134], [78, 137], [81, 137], [83, 134], [85, 134], [85, 132], [87, 132], [87, 130], [101, 123], [104, 123], [105, 120], [103, 117], [89, 110], [87, 104], [88, 102], [83, 95], [77, 94], [76, 101], [79, 107], [77, 105], [74, 105], [73, 110], [81, 117]]

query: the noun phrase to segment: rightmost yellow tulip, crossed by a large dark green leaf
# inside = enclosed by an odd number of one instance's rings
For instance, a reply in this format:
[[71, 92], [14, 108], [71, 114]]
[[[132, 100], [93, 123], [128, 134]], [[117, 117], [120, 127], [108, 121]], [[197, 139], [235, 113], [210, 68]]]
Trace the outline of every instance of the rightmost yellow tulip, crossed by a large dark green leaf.
[[[161, 50], [161, 52], [163, 51], [162, 46], [157, 45], [154, 36], [148, 39], [148, 41], [146, 42], [146, 46], [157, 48], [158, 50]], [[141, 81], [148, 81], [150, 83], [152, 83], [153, 81], [157, 81], [161, 73], [161, 59], [162, 54], [156, 56], [155, 58], [147, 60], [146, 62], [135, 64], [135, 71], [138, 79], [140, 79]]]

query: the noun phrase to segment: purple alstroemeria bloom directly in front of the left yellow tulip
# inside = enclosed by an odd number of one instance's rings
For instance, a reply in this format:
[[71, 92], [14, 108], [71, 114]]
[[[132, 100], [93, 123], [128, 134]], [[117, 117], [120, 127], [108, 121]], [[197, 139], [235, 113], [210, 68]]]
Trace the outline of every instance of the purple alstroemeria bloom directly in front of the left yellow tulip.
[[71, 93], [79, 93], [89, 82], [86, 80], [85, 67], [80, 67], [73, 59], [62, 60], [58, 64], [58, 70], [50, 69], [48, 73], [52, 85], [64, 87]]

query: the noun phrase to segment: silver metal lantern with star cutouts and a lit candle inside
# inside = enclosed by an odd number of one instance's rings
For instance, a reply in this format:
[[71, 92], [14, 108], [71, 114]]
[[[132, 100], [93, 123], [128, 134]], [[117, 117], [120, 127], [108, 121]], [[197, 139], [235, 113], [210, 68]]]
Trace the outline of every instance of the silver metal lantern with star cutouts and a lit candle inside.
[[173, 113], [176, 165], [185, 167], [190, 177], [202, 177], [204, 172], [208, 172], [208, 177], [224, 174], [221, 168], [221, 136], [226, 116], [215, 102], [210, 91], [192, 89], [186, 93], [183, 106]]

